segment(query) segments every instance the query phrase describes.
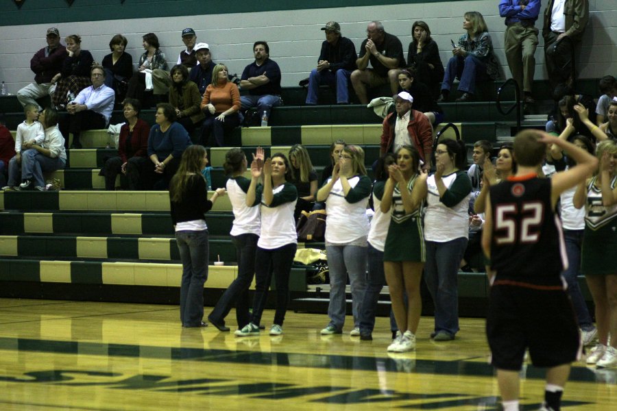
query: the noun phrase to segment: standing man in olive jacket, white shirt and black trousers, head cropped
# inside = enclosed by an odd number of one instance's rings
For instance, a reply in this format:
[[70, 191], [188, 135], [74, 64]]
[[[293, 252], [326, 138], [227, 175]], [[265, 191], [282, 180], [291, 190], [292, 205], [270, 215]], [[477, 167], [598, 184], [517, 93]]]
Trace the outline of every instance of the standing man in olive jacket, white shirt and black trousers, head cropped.
[[[572, 82], [572, 53], [589, 20], [588, 0], [548, 0], [544, 10], [544, 60], [553, 86]], [[568, 37], [572, 41], [568, 41]]]

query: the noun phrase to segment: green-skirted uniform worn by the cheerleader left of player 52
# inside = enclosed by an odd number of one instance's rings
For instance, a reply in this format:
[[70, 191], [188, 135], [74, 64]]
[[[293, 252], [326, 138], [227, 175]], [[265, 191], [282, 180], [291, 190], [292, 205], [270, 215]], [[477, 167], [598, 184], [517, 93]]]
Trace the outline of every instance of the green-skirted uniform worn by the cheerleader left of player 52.
[[[409, 180], [407, 188], [413, 190], [418, 175]], [[423, 201], [424, 203], [424, 201]], [[422, 205], [411, 214], [405, 214], [398, 184], [392, 194], [390, 227], [383, 249], [384, 261], [425, 262]]]

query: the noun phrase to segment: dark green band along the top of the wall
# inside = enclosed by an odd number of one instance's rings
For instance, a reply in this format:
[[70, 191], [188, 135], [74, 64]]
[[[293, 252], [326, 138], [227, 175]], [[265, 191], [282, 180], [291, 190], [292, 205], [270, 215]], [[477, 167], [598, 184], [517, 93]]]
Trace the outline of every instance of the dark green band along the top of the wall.
[[[65, 0], [25, 0], [21, 9], [13, 1], [0, 3], [0, 25], [68, 23], [75, 21], [124, 20], [127, 18], [156, 18], [197, 16], [239, 12], [272, 12], [318, 8], [358, 7], [362, 5], [391, 5], [401, 3], [435, 3], [441, 0], [312, 0], [312, 1], [254, 1], [237, 0], [220, 3], [213, 0], [75, 0], [69, 7]], [[452, 1], [452, 0], [450, 0]], [[461, 0], [454, 0], [461, 1]], [[191, 10], [191, 12], [187, 12]], [[267, 24], [267, 22], [264, 22]], [[153, 29], [155, 26], [153, 26]]]

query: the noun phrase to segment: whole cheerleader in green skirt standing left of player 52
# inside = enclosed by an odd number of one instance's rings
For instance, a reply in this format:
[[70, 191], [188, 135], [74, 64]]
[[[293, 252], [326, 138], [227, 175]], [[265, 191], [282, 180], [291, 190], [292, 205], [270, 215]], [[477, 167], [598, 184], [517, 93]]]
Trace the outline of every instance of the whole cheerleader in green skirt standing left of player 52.
[[[396, 151], [396, 164], [389, 166], [380, 208], [391, 212], [383, 261], [392, 311], [399, 331], [388, 351], [415, 349], [422, 299], [420, 279], [426, 255], [422, 232], [422, 202], [426, 197], [426, 173], [419, 173], [420, 154], [408, 145]], [[409, 304], [405, 308], [404, 294]]]

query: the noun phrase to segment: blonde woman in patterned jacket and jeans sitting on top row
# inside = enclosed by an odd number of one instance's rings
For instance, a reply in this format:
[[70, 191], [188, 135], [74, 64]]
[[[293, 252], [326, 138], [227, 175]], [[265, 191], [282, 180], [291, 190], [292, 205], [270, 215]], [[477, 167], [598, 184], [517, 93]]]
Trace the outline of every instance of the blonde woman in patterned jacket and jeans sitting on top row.
[[448, 61], [444, 81], [441, 83], [441, 97], [446, 101], [455, 78], [461, 79], [458, 90], [463, 94], [457, 101], [471, 101], [476, 92], [476, 83], [495, 80], [499, 77], [499, 64], [493, 51], [484, 17], [479, 12], [466, 12], [463, 29], [467, 30], [452, 49], [454, 55]]

